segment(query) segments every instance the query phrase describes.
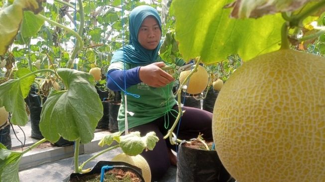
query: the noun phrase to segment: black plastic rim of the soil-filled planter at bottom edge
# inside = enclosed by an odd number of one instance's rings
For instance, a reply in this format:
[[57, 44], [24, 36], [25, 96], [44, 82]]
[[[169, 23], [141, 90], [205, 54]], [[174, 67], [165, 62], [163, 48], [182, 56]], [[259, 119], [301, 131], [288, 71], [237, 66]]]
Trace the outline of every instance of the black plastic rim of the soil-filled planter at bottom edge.
[[[144, 182], [144, 179], [142, 177], [142, 170], [140, 168], [138, 168], [136, 166], [133, 166], [133, 165], [130, 165], [128, 163], [115, 162], [115, 161], [100, 161], [95, 165], [95, 167], [89, 173], [85, 173], [85, 174], [72, 173], [70, 175], [70, 177], [64, 179], [63, 182], [70, 182], [70, 180], [78, 179], [78, 178], [93, 175], [93, 174], [101, 174], [103, 166], [114, 166], [114, 167], [119, 168], [119, 169], [120, 168], [125, 168], [125, 169], [132, 170], [133, 172], [135, 172], [139, 176], [139, 178], [142, 180], [142, 182]], [[117, 166], [119, 166], [119, 167], [117, 167]], [[108, 172], [108, 171], [109, 170], [106, 170], [105, 172]]]

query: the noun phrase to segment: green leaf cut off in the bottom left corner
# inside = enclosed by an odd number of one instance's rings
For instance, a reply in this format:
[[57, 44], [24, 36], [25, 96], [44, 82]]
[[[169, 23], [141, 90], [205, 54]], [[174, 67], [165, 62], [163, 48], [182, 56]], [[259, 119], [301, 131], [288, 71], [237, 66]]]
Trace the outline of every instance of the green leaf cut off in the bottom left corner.
[[0, 143], [0, 182], [19, 182], [18, 169], [21, 152], [7, 150]]

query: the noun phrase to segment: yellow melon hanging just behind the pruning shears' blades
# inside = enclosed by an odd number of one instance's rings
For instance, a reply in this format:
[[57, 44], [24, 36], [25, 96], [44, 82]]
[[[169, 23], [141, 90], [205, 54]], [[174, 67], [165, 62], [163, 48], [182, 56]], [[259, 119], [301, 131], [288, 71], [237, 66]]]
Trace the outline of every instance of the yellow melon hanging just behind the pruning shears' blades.
[[[186, 77], [191, 73], [191, 70], [181, 72], [179, 81], [182, 84]], [[209, 83], [209, 74], [207, 70], [199, 65], [198, 70], [190, 77], [186, 92], [190, 94], [198, 94], [204, 91]]]

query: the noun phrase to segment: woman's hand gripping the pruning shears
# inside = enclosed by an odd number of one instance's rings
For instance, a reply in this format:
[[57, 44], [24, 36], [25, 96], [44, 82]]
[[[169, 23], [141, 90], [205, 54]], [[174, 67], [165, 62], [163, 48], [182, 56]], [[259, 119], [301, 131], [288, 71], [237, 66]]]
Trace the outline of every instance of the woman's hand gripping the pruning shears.
[[139, 78], [140, 80], [150, 87], [164, 87], [173, 82], [175, 79], [164, 70], [164, 62], [156, 62], [147, 66], [140, 67]]

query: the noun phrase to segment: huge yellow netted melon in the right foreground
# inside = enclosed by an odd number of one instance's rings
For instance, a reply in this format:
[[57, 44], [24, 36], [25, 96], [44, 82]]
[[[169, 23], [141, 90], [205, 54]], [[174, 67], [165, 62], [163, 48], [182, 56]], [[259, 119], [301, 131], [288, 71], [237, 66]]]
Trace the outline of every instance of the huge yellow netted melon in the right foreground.
[[325, 58], [279, 50], [243, 64], [218, 94], [213, 135], [237, 182], [325, 182]]

